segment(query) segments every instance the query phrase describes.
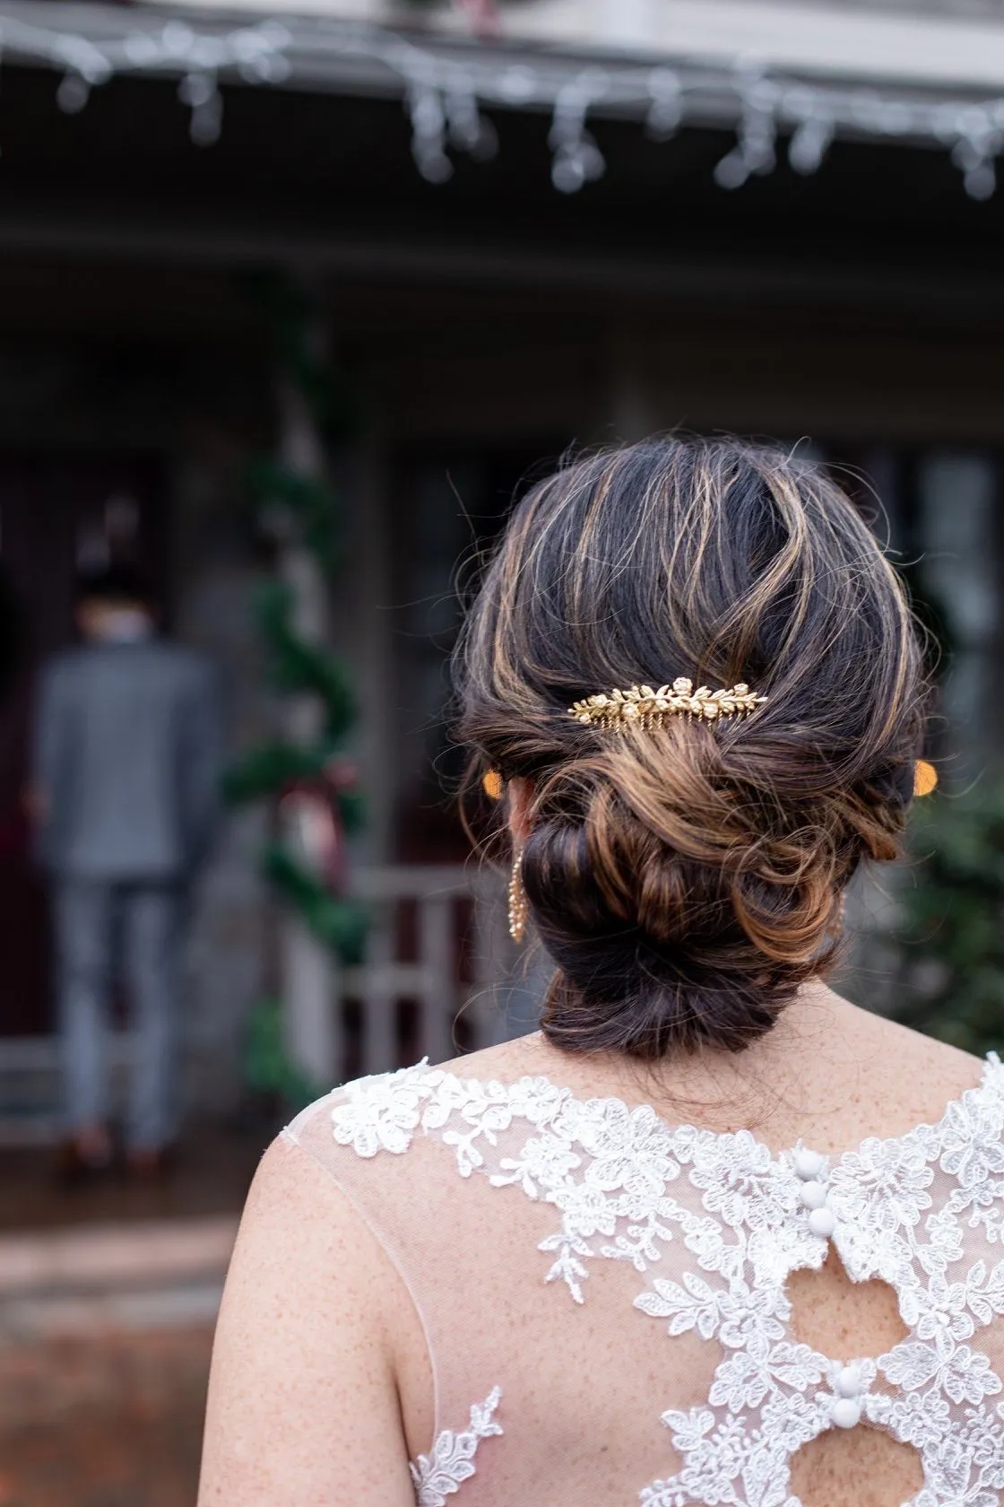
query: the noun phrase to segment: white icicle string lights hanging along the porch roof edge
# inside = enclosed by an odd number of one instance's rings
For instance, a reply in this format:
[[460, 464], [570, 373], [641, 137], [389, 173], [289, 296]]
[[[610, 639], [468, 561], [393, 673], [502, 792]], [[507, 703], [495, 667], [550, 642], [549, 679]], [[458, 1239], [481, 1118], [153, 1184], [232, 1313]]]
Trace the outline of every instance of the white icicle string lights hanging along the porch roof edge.
[[62, 6], [53, 5], [51, 12], [51, 20], [42, 20], [41, 8], [32, 6], [27, 21], [24, 0], [6, 6], [0, 0], [0, 47], [6, 60], [59, 69], [57, 102], [71, 115], [116, 74], [175, 77], [193, 140], [209, 145], [223, 127], [221, 80], [331, 90], [342, 81], [360, 89], [363, 75], [363, 92], [391, 86], [402, 93], [415, 164], [437, 184], [453, 173], [450, 151], [477, 161], [497, 152], [486, 107], [549, 112], [551, 179], [561, 193], [575, 193], [605, 172], [589, 127], [596, 116], [638, 118], [656, 140], [688, 122], [733, 125], [736, 143], [715, 167], [715, 181], [727, 190], [774, 170], [778, 136], [787, 136], [787, 161], [802, 175], [819, 170], [837, 137], [941, 146], [974, 199], [995, 191], [995, 163], [1004, 151], [1004, 98], [808, 84], [742, 60], [732, 69], [694, 62], [653, 68], [616, 59], [584, 68], [554, 53], [516, 60], [498, 44], [443, 39], [432, 45], [324, 18], [223, 30], [176, 18], [164, 23], [154, 11], [116, 15], [114, 23], [102, 14], [95, 33], [83, 36], [60, 27]]

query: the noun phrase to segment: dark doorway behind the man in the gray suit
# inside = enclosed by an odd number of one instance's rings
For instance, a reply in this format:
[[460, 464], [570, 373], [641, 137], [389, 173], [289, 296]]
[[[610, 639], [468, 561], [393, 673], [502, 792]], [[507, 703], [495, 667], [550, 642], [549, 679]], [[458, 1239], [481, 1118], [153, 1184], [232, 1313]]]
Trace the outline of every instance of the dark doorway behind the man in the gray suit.
[[164, 546], [157, 463], [0, 455], [0, 570], [15, 656], [0, 690], [0, 1035], [51, 1028], [47, 895], [24, 805], [38, 666], [74, 640], [78, 568], [128, 558], [164, 601]]

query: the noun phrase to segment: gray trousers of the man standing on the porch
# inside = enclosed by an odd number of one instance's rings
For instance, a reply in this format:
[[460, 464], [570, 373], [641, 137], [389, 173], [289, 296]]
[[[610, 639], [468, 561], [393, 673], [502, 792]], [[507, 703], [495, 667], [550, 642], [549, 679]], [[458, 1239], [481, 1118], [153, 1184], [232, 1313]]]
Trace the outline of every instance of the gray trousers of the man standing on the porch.
[[176, 1133], [179, 963], [184, 889], [164, 883], [63, 879], [56, 886], [63, 1108], [72, 1133], [111, 1112], [108, 1002], [116, 945], [135, 1056], [126, 1139], [158, 1150]]

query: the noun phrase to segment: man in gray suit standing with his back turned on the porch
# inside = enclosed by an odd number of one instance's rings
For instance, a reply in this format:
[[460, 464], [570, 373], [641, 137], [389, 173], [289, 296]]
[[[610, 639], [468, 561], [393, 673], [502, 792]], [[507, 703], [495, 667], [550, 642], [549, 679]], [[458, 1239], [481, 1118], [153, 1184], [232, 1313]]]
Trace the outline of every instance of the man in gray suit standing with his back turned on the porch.
[[163, 1168], [176, 1133], [179, 963], [187, 895], [218, 809], [220, 695], [212, 668], [155, 633], [141, 582], [81, 582], [80, 648], [42, 672], [33, 805], [53, 879], [65, 1169], [111, 1157], [108, 992], [114, 943], [134, 1023], [126, 1156]]

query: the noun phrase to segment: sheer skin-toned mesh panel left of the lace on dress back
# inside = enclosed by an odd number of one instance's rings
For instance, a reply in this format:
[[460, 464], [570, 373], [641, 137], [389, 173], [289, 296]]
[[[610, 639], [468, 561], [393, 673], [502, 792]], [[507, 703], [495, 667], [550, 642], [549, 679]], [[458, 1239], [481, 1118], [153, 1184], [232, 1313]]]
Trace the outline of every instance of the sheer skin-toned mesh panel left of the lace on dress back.
[[295, 1136], [367, 1219], [411, 1291], [435, 1379], [434, 1439], [467, 1429], [471, 1406], [500, 1389], [504, 1435], [480, 1445], [462, 1501], [614, 1507], [638, 1472], [640, 1483], [665, 1474], [661, 1408], [638, 1408], [638, 1389], [653, 1403], [665, 1397], [670, 1362], [670, 1395], [682, 1406], [701, 1402], [716, 1346], [688, 1335], [668, 1347], [662, 1326], [632, 1308], [637, 1275], [620, 1263], [599, 1264], [583, 1305], [563, 1282], [545, 1282], [551, 1258], [537, 1246], [554, 1231], [554, 1210], [516, 1186], [458, 1175], [441, 1141], [417, 1136], [406, 1156], [360, 1160], [334, 1144], [330, 1111], [300, 1121]]

